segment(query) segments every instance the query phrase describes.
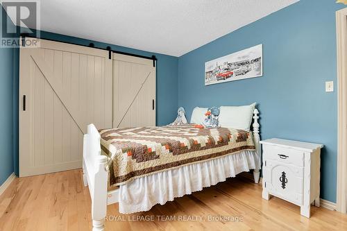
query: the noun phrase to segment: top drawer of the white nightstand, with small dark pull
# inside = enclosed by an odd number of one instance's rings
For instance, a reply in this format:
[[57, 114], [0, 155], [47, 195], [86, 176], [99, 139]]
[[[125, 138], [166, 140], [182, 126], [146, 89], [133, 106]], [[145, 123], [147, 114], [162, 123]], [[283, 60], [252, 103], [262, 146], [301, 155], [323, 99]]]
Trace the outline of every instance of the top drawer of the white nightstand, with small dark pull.
[[294, 164], [295, 166], [304, 166], [303, 151], [297, 151], [292, 148], [283, 148], [274, 145], [264, 145], [264, 160], [276, 160], [283, 164]]

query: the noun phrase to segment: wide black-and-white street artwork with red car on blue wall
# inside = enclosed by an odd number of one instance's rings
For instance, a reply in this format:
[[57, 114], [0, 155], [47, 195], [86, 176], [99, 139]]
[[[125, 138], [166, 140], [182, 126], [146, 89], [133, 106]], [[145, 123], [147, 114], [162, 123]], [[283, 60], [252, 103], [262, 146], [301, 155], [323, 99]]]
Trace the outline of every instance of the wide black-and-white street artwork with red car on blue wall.
[[205, 62], [205, 85], [262, 76], [262, 44]]

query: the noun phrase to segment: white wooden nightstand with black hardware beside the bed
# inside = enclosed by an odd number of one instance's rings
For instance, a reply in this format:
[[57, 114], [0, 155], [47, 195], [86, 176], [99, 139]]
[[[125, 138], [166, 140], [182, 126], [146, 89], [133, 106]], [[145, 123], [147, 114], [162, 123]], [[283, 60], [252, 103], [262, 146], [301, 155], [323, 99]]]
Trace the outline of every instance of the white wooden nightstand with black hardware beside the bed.
[[262, 144], [262, 198], [269, 194], [301, 207], [310, 217], [310, 205], [319, 207], [322, 144], [266, 139]]

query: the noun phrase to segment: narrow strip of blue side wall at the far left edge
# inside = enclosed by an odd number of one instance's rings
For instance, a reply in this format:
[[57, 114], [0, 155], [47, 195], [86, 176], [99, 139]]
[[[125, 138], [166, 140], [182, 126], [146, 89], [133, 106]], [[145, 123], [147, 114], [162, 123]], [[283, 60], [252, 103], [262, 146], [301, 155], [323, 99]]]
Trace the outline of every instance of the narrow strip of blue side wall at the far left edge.
[[[6, 14], [0, 6], [1, 14]], [[4, 24], [6, 22], [2, 22]], [[0, 48], [0, 185], [13, 173], [13, 49]]]

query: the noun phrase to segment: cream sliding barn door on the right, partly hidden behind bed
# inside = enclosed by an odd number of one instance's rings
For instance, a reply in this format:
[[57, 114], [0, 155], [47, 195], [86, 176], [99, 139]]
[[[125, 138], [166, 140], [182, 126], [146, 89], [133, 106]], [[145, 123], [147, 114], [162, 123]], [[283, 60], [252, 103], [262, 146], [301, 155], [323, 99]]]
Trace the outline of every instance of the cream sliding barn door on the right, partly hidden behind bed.
[[153, 60], [113, 54], [113, 127], [155, 126]]

